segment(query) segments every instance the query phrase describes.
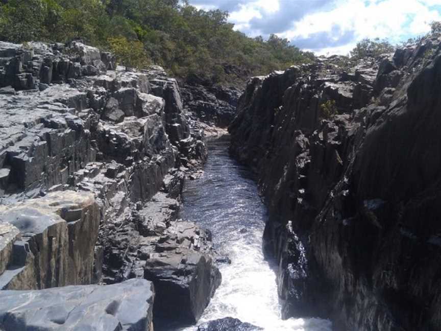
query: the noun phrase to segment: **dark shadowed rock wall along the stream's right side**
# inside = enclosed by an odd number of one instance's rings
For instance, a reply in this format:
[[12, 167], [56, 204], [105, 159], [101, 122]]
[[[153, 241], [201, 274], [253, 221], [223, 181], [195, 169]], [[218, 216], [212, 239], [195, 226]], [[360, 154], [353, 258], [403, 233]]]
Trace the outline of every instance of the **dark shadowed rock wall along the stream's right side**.
[[283, 317], [439, 329], [439, 52], [426, 38], [377, 60], [319, 59], [250, 81], [231, 151], [269, 208]]

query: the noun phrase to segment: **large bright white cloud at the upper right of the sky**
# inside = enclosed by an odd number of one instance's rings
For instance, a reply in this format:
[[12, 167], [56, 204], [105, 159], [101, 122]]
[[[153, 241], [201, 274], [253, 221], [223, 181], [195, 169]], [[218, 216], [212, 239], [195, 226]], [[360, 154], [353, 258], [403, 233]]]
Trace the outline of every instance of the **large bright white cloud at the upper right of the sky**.
[[356, 41], [363, 38], [388, 38], [391, 42], [399, 42], [409, 36], [427, 33], [429, 23], [441, 20], [441, 15], [423, 2], [438, 4], [441, 0], [383, 0], [367, 4], [362, 0], [339, 0], [334, 9], [306, 15], [279, 35], [295, 41], [329, 32], [332, 42], [332, 38], [338, 39], [353, 31], [354, 40], [346, 44], [314, 50], [318, 54], [347, 54]]

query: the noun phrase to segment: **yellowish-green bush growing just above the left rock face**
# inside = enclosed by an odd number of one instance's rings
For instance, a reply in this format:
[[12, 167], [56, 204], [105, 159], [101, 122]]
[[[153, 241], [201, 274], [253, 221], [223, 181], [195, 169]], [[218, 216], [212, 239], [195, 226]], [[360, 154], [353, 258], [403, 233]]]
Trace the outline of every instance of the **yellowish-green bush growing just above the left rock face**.
[[144, 45], [139, 40], [127, 40], [126, 37], [111, 37], [108, 39], [110, 50], [116, 56], [118, 64], [129, 68], [143, 69], [150, 64], [149, 56]]

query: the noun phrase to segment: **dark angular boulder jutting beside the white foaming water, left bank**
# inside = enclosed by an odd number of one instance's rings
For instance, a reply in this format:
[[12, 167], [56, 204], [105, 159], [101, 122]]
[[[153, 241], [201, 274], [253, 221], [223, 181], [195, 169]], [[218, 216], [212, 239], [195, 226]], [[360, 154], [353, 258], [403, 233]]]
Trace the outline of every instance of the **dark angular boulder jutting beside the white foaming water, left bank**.
[[148, 253], [144, 278], [158, 295], [154, 311], [158, 323], [194, 324], [220, 285], [220, 272], [207, 254], [209, 235], [191, 223], [178, 222], [167, 229], [154, 251]]

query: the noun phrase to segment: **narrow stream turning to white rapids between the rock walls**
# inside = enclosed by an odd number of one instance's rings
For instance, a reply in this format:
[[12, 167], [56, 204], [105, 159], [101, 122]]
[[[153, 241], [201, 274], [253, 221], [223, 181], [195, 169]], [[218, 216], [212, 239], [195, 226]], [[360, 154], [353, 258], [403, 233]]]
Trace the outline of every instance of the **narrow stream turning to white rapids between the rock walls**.
[[266, 331], [331, 330], [327, 320], [281, 320], [276, 275], [262, 253], [266, 208], [250, 172], [228, 155], [226, 139], [209, 143], [204, 170], [187, 181], [180, 217], [210, 229], [216, 249], [232, 263], [220, 266], [222, 285], [199, 323], [230, 316]]

